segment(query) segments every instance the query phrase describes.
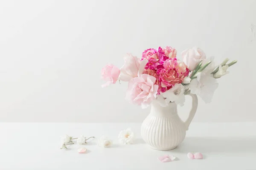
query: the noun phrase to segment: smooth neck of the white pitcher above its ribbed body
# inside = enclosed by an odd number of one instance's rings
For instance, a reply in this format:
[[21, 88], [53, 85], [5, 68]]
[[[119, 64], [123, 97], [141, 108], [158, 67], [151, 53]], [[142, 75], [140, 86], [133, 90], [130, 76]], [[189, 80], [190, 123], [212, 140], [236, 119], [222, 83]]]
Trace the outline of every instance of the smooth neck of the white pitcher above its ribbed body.
[[160, 116], [160, 117], [174, 116], [177, 114], [177, 105], [174, 102], [172, 102], [172, 103], [169, 103], [168, 106], [162, 107], [159, 104], [159, 102], [153, 101], [151, 103], [150, 114], [154, 116]]

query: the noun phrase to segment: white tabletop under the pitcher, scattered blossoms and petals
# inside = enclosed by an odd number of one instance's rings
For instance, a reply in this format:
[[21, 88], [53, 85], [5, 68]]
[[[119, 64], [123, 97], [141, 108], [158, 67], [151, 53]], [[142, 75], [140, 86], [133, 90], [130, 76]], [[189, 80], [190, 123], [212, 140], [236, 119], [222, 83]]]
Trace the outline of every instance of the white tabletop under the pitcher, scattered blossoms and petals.
[[[119, 131], [131, 127], [132, 145], [118, 143]], [[60, 136], [107, 135], [110, 148], [96, 140], [79, 154], [73, 144], [60, 150]], [[0, 170], [256, 170], [256, 123], [192, 123], [185, 140], [174, 150], [149, 148], [140, 138], [140, 123], [0, 123]], [[190, 160], [188, 152], [201, 152], [203, 160]], [[179, 160], [162, 163], [158, 156]]]

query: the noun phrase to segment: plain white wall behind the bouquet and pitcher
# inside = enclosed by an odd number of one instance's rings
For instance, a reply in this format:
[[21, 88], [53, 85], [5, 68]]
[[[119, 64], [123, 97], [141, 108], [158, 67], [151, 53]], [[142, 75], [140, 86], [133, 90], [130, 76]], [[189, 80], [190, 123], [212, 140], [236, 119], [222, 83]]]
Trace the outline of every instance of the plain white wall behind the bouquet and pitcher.
[[149, 108], [125, 101], [126, 83], [102, 89], [100, 71], [166, 45], [238, 59], [194, 122], [256, 121], [251, 24], [256, 0], [2, 0], [0, 122], [141, 122]]

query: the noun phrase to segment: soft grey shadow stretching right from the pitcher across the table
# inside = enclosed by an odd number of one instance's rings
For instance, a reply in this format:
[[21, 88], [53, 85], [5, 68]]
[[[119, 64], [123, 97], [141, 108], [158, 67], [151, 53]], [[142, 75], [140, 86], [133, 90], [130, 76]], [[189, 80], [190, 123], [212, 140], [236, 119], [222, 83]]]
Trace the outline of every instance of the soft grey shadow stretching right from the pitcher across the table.
[[184, 141], [172, 152], [188, 153], [232, 153], [232, 152], [256, 152], [256, 136], [253, 138], [207, 138], [186, 137]]

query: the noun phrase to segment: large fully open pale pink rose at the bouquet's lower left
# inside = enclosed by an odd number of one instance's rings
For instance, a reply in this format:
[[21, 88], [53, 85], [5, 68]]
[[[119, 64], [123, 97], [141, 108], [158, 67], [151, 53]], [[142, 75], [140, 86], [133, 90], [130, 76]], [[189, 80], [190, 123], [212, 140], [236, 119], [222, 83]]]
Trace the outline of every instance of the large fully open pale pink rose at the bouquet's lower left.
[[158, 85], [154, 85], [155, 81], [156, 78], [148, 74], [134, 77], [128, 83], [125, 98], [135, 105], [147, 108], [157, 97]]

